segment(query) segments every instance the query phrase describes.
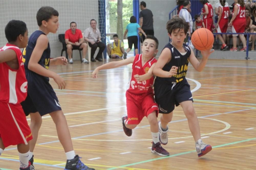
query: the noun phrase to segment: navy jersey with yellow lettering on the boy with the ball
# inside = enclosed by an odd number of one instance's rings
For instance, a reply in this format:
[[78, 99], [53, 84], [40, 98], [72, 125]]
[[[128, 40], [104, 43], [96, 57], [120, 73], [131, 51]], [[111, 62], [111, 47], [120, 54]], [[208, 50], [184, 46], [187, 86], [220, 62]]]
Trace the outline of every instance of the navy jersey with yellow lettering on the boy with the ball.
[[189, 56], [191, 54], [190, 47], [186, 44], [183, 44], [183, 48], [187, 51], [186, 54], [181, 54], [171, 43], [165, 45], [165, 48], [170, 49], [172, 58], [171, 61], [165, 64], [163, 67], [164, 71], [170, 71], [172, 66], [178, 67], [177, 75], [173, 75], [172, 77], [158, 77], [156, 76], [155, 81], [163, 84], [172, 84], [172, 82], [180, 82], [185, 78], [187, 70], [188, 70], [188, 62]]

